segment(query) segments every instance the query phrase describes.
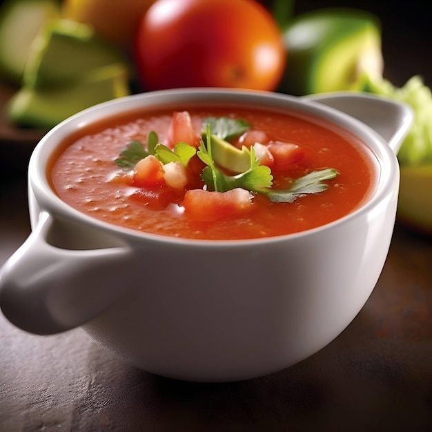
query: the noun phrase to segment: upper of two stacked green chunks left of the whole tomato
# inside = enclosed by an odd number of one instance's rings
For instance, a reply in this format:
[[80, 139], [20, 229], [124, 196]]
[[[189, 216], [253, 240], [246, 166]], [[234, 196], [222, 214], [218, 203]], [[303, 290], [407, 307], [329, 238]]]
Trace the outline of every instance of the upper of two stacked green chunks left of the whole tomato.
[[117, 48], [102, 41], [84, 23], [58, 19], [33, 41], [23, 75], [23, 85], [42, 88], [64, 86], [77, 81], [92, 69], [124, 63], [124, 55]]

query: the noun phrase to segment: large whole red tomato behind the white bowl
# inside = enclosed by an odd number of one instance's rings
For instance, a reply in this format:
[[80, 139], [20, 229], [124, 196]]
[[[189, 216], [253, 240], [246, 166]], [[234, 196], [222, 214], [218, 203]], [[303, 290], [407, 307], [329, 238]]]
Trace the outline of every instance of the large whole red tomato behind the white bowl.
[[275, 90], [286, 63], [277, 23], [255, 0], [157, 0], [134, 49], [145, 90]]

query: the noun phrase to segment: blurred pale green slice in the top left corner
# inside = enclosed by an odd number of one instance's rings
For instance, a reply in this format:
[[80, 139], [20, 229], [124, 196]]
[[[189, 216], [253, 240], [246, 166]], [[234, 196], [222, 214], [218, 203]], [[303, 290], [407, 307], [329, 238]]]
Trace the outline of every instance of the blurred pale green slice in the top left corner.
[[32, 41], [59, 19], [59, 0], [6, 0], [0, 8], [0, 72], [12, 83], [23, 77]]

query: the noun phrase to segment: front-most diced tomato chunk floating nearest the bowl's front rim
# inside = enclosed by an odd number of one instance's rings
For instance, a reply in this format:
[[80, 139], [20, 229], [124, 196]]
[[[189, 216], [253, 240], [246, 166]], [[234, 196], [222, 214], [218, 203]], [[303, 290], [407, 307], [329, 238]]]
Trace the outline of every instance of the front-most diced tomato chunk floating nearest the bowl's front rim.
[[252, 202], [248, 190], [242, 188], [228, 192], [191, 189], [184, 195], [183, 206], [190, 219], [211, 222], [245, 213], [251, 209]]

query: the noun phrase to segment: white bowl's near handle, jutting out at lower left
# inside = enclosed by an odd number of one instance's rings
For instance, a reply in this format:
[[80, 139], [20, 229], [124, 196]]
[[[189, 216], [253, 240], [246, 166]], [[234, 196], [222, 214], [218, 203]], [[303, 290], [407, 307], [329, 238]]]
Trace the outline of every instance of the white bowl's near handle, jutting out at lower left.
[[84, 324], [127, 291], [132, 248], [70, 250], [48, 243], [53, 218], [41, 212], [26, 242], [0, 271], [0, 307], [12, 324], [48, 335]]

